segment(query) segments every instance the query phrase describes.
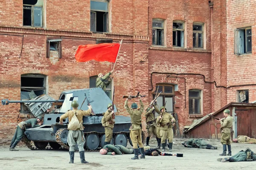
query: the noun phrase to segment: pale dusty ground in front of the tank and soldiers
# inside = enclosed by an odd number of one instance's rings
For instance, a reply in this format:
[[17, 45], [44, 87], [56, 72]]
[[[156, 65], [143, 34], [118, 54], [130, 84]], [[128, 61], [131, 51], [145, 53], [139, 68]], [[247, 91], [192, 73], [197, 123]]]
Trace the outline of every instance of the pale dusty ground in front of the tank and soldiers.
[[[75, 153], [74, 164], [68, 164], [69, 153], [64, 150], [29, 150], [17, 147], [20, 151], [9, 151], [9, 147], [0, 147], [0, 170], [240, 170], [255, 169], [256, 161], [250, 162], [218, 162], [222, 153], [219, 140], [208, 140], [217, 150], [185, 148], [181, 143], [185, 139], [174, 139], [173, 152], [183, 153], [183, 157], [176, 156], [146, 156], [146, 159], [131, 160], [133, 155], [100, 155], [99, 152], [86, 152], [85, 159], [89, 164], [81, 164], [79, 153]], [[156, 146], [156, 140], [150, 140], [151, 147]], [[129, 146], [128, 146], [129, 147]], [[131, 147], [131, 146], [130, 146]], [[256, 151], [256, 144], [232, 143], [232, 154], [250, 147]], [[169, 153], [169, 152], [168, 152]]]

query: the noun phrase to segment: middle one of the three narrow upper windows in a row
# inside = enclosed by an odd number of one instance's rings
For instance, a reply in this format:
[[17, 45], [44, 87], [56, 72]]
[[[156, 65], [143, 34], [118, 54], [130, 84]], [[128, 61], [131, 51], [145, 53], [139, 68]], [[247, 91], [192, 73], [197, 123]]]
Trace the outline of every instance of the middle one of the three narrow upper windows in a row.
[[184, 23], [172, 23], [172, 45], [184, 47]]

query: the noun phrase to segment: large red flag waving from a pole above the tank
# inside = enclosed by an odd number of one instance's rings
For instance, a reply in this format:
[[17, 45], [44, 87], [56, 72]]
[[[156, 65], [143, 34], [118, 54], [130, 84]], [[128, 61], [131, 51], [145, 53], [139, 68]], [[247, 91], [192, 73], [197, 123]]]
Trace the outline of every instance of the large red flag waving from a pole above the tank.
[[79, 45], [76, 51], [76, 61], [87, 62], [90, 60], [116, 62], [119, 43], [102, 43]]

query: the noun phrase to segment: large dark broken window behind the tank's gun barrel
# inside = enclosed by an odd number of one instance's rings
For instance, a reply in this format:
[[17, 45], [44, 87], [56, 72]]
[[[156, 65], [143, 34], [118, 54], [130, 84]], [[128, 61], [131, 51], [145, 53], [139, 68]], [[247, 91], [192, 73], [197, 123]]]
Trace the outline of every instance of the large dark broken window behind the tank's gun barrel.
[[[46, 76], [41, 74], [23, 74], [20, 77], [20, 99], [33, 99], [46, 94]], [[20, 113], [29, 113], [28, 108], [21, 103]]]

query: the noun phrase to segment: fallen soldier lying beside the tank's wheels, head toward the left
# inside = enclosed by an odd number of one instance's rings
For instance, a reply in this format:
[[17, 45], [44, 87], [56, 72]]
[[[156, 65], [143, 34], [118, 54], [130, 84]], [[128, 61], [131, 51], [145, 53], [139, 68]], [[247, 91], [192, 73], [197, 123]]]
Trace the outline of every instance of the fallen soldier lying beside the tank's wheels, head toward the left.
[[99, 150], [99, 153], [102, 155], [122, 155], [122, 154], [132, 154], [134, 152], [133, 149], [128, 149], [122, 145], [116, 144], [106, 144], [104, 147], [102, 147], [101, 150]]

